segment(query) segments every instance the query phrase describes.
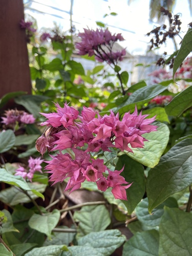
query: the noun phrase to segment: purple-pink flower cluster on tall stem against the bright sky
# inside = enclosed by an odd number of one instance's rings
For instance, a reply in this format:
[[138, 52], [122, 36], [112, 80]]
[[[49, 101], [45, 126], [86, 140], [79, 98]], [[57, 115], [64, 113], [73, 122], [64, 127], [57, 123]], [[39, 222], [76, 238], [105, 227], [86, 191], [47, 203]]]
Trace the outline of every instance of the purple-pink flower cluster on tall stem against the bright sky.
[[79, 33], [79, 37], [81, 41], [76, 43], [79, 55], [95, 55], [99, 62], [106, 61], [109, 64], [116, 65], [126, 54], [125, 49], [117, 52], [112, 50], [114, 42], [124, 40], [120, 33], [112, 35], [108, 29], [104, 31], [102, 29], [96, 31], [84, 29], [84, 33]]

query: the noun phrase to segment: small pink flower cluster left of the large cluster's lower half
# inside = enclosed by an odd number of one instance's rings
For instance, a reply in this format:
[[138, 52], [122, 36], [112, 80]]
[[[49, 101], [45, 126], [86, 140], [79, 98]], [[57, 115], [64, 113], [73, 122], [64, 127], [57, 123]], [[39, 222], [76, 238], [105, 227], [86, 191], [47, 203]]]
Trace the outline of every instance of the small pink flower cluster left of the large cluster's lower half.
[[19, 168], [17, 168], [15, 171], [15, 175], [22, 176], [24, 179], [28, 179], [30, 182], [32, 182], [33, 176], [35, 172], [42, 173], [40, 164], [44, 162], [44, 159], [38, 158], [32, 158], [30, 157], [28, 160], [28, 168], [24, 168], [23, 166], [19, 165]]

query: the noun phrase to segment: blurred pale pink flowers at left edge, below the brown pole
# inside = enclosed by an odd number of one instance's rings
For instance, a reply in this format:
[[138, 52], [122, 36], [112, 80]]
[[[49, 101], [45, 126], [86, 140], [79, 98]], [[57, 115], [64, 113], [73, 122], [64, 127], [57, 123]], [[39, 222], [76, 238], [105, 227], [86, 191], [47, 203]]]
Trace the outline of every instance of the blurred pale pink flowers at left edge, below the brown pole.
[[35, 122], [35, 118], [32, 114], [28, 114], [27, 112], [22, 110], [17, 110], [17, 109], [6, 110], [5, 116], [6, 117], [1, 117], [1, 118], [2, 118], [2, 123], [6, 125], [15, 125], [16, 123], [29, 124], [29, 123]]

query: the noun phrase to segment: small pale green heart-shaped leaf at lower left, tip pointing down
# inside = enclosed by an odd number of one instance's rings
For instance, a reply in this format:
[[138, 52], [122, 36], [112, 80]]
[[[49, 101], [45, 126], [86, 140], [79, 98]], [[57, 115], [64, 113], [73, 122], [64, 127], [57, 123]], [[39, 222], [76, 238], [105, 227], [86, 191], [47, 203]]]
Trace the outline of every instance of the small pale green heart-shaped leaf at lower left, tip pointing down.
[[29, 220], [29, 226], [41, 233], [45, 233], [51, 239], [51, 231], [56, 227], [60, 218], [60, 212], [54, 209], [44, 215], [34, 214]]

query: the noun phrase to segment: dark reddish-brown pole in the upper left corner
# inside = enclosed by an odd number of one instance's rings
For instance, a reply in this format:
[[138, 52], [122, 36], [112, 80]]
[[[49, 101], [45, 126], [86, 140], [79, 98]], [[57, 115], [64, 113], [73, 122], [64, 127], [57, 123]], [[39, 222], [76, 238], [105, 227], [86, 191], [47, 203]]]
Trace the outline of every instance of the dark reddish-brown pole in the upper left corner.
[[7, 93], [31, 94], [23, 0], [0, 0], [0, 98]]

